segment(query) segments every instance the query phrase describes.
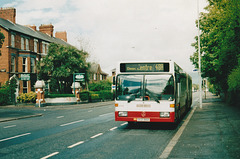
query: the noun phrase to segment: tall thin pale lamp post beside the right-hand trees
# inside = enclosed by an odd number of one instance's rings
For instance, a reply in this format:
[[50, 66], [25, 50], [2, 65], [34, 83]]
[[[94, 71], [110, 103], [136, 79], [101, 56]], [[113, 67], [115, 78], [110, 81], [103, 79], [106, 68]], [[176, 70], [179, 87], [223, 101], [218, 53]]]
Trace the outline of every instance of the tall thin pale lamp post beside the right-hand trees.
[[200, 13], [199, 13], [199, 0], [197, 0], [197, 10], [198, 10], [198, 81], [199, 81], [199, 105], [202, 109], [202, 77], [201, 77], [201, 52], [200, 52]]

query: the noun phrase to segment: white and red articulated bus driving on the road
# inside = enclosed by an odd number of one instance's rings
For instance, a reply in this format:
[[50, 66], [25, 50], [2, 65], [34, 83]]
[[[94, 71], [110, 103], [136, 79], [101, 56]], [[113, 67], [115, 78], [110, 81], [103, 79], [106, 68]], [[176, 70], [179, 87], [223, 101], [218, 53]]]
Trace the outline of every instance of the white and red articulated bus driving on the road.
[[177, 124], [192, 105], [192, 78], [173, 61], [121, 62], [115, 121]]

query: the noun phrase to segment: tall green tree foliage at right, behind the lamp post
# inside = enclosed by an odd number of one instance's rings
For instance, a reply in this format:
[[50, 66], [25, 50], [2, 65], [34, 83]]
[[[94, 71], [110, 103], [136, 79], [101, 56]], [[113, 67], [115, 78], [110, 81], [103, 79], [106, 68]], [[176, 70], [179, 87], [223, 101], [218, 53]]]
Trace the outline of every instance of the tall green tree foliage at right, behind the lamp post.
[[[205, 8], [208, 12], [201, 13], [200, 41], [202, 76], [208, 77], [217, 91], [228, 91], [228, 75], [237, 66], [240, 53], [240, 1], [239, 0], [208, 0]], [[198, 38], [192, 44], [196, 52], [190, 57], [198, 67]]]

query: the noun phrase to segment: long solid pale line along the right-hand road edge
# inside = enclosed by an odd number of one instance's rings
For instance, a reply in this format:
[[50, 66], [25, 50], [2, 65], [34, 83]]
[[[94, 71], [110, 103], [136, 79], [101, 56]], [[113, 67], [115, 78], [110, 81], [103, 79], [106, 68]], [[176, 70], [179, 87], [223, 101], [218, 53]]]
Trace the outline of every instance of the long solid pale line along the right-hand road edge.
[[178, 142], [180, 136], [182, 135], [184, 129], [186, 128], [186, 126], [187, 126], [189, 120], [191, 119], [191, 117], [192, 117], [194, 111], [196, 110], [196, 108], [197, 107], [194, 107], [192, 109], [192, 111], [189, 114], [189, 116], [187, 117], [186, 121], [183, 123], [183, 125], [180, 127], [180, 129], [177, 131], [177, 133], [174, 135], [172, 140], [168, 143], [167, 147], [164, 149], [164, 151], [162, 152], [161, 156], [159, 156], [159, 159], [168, 158], [169, 154], [171, 153], [172, 149], [174, 148], [174, 146]]

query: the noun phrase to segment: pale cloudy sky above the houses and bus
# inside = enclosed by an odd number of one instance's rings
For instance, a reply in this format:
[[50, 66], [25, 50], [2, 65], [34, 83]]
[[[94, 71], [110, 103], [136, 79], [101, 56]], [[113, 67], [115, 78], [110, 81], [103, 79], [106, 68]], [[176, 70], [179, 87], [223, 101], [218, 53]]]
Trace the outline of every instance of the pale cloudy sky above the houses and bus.
[[0, 0], [0, 7], [16, 8], [18, 24], [67, 31], [68, 43], [111, 75], [121, 61], [172, 60], [192, 72], [198, 1], [202, 12], [207, 0]]

